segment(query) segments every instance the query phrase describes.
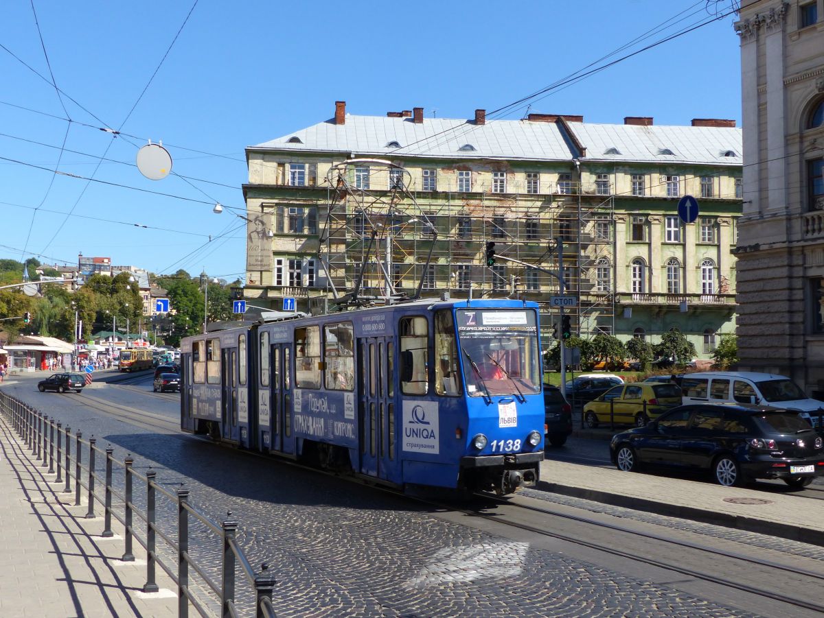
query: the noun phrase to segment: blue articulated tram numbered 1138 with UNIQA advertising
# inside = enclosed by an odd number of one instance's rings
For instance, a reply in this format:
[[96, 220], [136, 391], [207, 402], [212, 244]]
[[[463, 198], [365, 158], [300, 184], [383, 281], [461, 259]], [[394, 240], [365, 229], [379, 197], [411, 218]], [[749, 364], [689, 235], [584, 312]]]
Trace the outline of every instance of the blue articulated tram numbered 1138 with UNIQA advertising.
[[534, 485], [536, 303], [414, 300], [187, 337], [181, 429], [387, 485]]

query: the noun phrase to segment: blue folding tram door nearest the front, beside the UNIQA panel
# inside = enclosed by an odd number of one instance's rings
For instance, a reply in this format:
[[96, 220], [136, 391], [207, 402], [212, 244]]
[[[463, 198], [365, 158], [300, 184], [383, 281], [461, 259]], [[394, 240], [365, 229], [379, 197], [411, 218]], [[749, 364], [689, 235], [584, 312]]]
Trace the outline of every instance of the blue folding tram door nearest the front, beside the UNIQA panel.
[[360, 472], [391, 479], [395, 456], [390, 337], [358, 339]]

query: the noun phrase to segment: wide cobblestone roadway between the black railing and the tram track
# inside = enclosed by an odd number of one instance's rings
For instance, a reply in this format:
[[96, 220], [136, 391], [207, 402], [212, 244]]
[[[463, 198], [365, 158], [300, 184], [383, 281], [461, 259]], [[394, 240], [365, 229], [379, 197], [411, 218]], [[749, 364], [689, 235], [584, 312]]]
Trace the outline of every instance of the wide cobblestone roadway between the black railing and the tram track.
[[[86, 437], [96, 434], [99, 447], [111, 444], [115, 458], [131, 453], [138, 472], [145, 474], [152, 466], [169, 490], [185, 485], [190, 502], [216, 521], [231, 510], [239, 523], [238, 543], [250, 562], [255, 568], [266, 562], [277, 579], [274, 606], [283, 618], [751, 616], [676, 588], [450, 523], [402, 497], [270, 458], [179, 434], [147, 434], [81, 407], [54, 413]], [[122, 475], [115, 473], [115, 482], [122, 483]], [[144, 501], [140, 490], [142, 484], [135, 489], [138, 508]], [[158, 500], [158, 513], [175, 538], [175, 509]], [[190, 553], [214, 565], [208, 571], [219, 582], [218, 538], [192, 520], [190, 534]], [[248, 594], [239, 594], [238, 602], [250, 608]]]

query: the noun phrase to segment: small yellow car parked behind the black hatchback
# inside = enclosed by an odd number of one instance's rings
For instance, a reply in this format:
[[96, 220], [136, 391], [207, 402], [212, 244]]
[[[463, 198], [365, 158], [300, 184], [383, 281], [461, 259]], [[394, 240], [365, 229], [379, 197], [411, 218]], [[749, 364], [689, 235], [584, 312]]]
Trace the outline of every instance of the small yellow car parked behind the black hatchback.
[[[646, 402], [646, 409], [644, 409]], [[620, 384], [583, 407], [583, 421], [596, 428], [601, 423], [643, 427], [672, 407], [681, 405], [681, 387], [677, 384], [637, 382]]]

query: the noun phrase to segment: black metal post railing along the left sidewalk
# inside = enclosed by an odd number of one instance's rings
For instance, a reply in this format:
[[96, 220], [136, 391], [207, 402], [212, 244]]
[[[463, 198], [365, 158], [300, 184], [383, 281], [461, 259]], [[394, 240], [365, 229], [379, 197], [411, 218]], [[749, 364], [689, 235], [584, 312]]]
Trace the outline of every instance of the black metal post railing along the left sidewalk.
[[[48, 467], [49, 474], [57, 475], [56, 483], [63, 483], [65, 486], [63, 493], [69, 494], [74, 491], [74, 505], [82, 504], [82, 490], [87, 490], [87, 513], [85, 518], [95, 517], [96, 501], [103, 505], [103, 532], [102, 537], [113, 537], [111, 524], [115, 518], [124, 526], [124, 554], [120, 560], [133, 562], [133, 541], [143, 546], [146, 550], [146, 583], [143, 584], [143, 592], [158, 592], [157, 586], [157, 566], [159, 565], [166, 574], [177, 585], [178, 616], [185, 618], [189, 616], [189, 607], [193, 606], [200, 616], [214, 616], [209, 611], [208, 606], [192, 592], [190, 586], [190, 568], [199, 575], [200, 579], [220, 600], [219, 616], [227, 618], [231, 616], [241, 616], [240, 608], [236, 604], [236, 581], [235, 571], [239, 566], [241, 574], [246, 576], [246, 582], [255, 593], [255, 616], [257, 618], [274, 618], [274, 606], [272, 603], [272, 592], [274, 590], [274, 576], [269, 573], [266, 563], [261, 565], [260, 572], [250, 565], [249, 560], [240, 546], [236, 542], [237, 522], [232, 518], [232, 513], [227, 513], [227, 518], [221, 523], [214, 523], [208, 515], [194, 508], [189, 501], [190, 491], [188, 489], [178, 489], [174, 493], [164, 489], [157, 481], [157, 472], [151, 467], [146, 475], [134, 470], [134, 460], [130, 456], [119, 461], [114, 457], [114, 448], [106, 447], [101, 449], [96, 445], [96, 439], [90, 437], [83, 439], [82, 432], [77, 430], [72, 435], [68, 425], [64, 428], [63, 423], [56, 421], [54, 416], [44, 415], [29, 407], [7, 393], [0, 393], [0, 414], [5, 416], [7, 422], [12, 425], [13, 430], [21, 437], [21, 440], [30, 449], [35, 460], [41, 462], [41, 467]], [[72, 450], [74, 442], [74, 451]], [[83, 465], [83, 450], [87, 452], [88, 462]], [[101, 478], [100, 472], [96, 470], [96, 456], [105, 457], [105, 476]], [[74, 464], [72, 466], [72, 463]], [[115, 466], [119, 466], [123, 471], [123, 490], [115, 488], [113, 476]], [[72, 467], [74, 471], [72, 472]], [[135, 503], [134, 480], [143, 481], [146, 487], [145, 510], [138, 509]], [[103, 482], [103, 496], [96, 493], [96, 482]], [[74, 483], [74, 488], [72, 488]], [[177, 512], [177, 533], [176, 538], [163, 532], [157, 521], [157, 497], [162, 496], [169, 500], [171, 507]], [[113, 498], [119, 500], [122, 512], [112, 506]], [[145, 526], [145, 535], [141, 536], [138, 526], [134, 525], [134, 517], [140, 520]], [[208, 566], [199, 564], [190, 554], [190, 517], [195, 521], [204, 524], [209, 530], [214, 532], [221, 539], [222, 543], [222, 564], [221, 581], [217, 583], [207, 573]], [[166, 557], [157, 549], [158, 537], [166, 551]], [[169, 555], [174, 555], [170, 559]], [[251, 593], [251, 591], [248, 591]]]

